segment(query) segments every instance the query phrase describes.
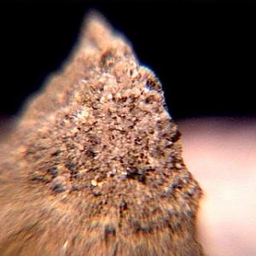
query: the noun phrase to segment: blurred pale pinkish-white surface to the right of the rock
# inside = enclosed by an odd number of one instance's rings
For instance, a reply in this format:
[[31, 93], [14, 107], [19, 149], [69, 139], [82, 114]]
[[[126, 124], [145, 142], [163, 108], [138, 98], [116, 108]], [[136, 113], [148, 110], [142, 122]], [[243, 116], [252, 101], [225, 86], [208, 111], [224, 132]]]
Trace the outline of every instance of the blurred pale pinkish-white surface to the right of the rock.
[[177, 125], [184, 162], [204, 190], [199, 236], [206, 255], [256, 255], [256, 119]]

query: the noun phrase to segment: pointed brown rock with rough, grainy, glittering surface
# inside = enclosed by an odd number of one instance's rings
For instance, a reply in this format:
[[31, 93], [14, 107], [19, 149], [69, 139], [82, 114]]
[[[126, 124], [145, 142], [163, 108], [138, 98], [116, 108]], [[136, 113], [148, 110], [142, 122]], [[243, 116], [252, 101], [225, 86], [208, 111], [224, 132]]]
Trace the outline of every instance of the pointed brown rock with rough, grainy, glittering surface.
[[161, 85], [96, 15], [1, 145], [1, 255], [202, 255]]

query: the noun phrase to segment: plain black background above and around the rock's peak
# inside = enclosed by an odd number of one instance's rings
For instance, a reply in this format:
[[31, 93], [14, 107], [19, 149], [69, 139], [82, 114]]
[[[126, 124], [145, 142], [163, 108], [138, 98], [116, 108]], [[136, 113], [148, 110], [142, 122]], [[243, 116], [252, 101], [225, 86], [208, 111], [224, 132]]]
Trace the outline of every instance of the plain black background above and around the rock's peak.
[[61, 66], [89, 9], [154, 70], [174, 118], [256, 114], [253, 1], [2, 0], [0, 115], [17, 113]]

